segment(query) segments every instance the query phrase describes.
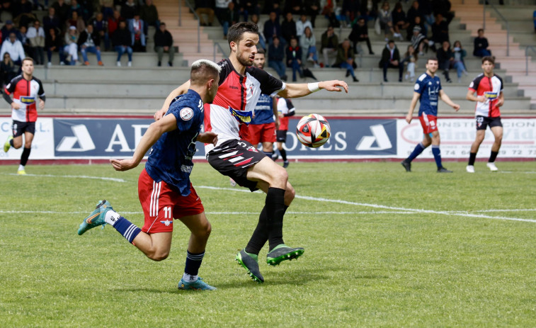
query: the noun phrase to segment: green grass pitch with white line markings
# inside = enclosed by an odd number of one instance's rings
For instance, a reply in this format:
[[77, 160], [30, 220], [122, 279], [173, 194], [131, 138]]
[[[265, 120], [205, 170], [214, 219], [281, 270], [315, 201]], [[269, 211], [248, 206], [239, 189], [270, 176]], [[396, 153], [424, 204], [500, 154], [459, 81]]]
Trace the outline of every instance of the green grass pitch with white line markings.
[[[142, 226], [135, 170], [0, 166], [1, 327], [535, 327], [535, 162], [295, 163], [285, 242], [297, 261], [253, 283], [234, 256], [263, 206], [208, 164], [193, 184], [212, 235], [200, 276], [177, 290], [188, 231], [147, 259], [112, 227], [78, 236], [97, 200]], [[102, 180], [93, 177], [120, 179]], [[214, 187], [214, 188], [206, 188]]]

